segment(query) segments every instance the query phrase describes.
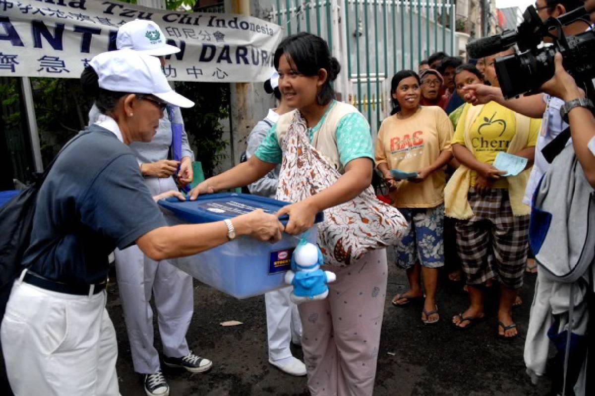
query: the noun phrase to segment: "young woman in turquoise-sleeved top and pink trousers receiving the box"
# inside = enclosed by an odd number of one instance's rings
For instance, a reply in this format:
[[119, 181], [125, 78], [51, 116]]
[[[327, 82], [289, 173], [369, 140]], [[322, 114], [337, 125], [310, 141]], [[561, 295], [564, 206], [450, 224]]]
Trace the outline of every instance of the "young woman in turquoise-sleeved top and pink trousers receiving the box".
[[[277, 199], [295, 203], [277, 214], [289, 214], [285, 232], [298, 235], [313, 226], [319, 211], [351, 202], [368, 188], [374, 161], [372, 138], [364, 116], [355, 107], [334, 100], [331, 81], [337, 77], [340, 65], [320, 37], [309, 33], [286, 37], [275, 51], [274, 65], [281, 94], [287, 105], [296, 110], [280, 116], [253, 157], [205, 180], [191, 191], [190, 199], [248, 185], [283, 162]], [[304, 169], [299, 157], [292, 163], [287, 160], [296, 121], [305, 124], [302, 132], [311, 143], [303, 148], [315, 148], [315, 156], [324, 157], [322, 162], [334, 166], [341, 175], [317, 194], [302, 194], [303, 191], [295, 194], [295, 191], [308, 188], [306, 179], [328, 179], [323, 168], [307, 169], [297, 175], [303, 183], [287, 179], [296, 169]], [[285, 172], [292, 164], [295, 167]], [[292, 195], [300, 194], [309, 197], [292, 199]], [[370, 220], [354, 221], [362, 224]], [[327, 237], [319, 233], [319, 243]], [[339, 252], [349, 255], [349, 251], [339, 249]], [[345, 264], [350, 265], [333, 268], [337, 280], [328, 285], [327, 299], [299, 305], [302, 348], [312, 395], [365, 396], [371, 395], [374, 388], [386, 293], [386, 252], [372, 250], [351, 261], [347, 257]]]

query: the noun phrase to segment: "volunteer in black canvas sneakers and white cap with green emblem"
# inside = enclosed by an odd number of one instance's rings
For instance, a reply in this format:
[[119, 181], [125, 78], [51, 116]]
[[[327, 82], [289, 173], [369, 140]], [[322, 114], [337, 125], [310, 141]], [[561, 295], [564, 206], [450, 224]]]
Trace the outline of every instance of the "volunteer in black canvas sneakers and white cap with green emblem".
[[[161, 65], [165, 63], [165, 55], [180, 51], [178, 47], [165, 43], [165, 36], [157, 24], [138, 19], [118, 29], [116, 45], [118, 49], [128, 48], [158, 56]], [[179, 181], [192, 181], [194, 154], [183, 128], [180, 107], [168, 106], [166, 110], [159, 119], [153, 140], [132, 142], [129, 146], [152, 195], [177, 189], [174, 177], [178, 166]], [[102, 121], [104, 117], [93, 106], [89, 112], [89, 123]], [[170, 155], [170, 148], [176, 143], [173, 141], [176, 125], [181, 129], [181, 136], [177, 136], [181, 138], [181, 161], [174, 160]], [[146, 394], [161, 396], [169, 389], [154, 346], [153, 311], [149, 304], [151, 294], [155, 299], [165, 365], [181, 367], [193, 373], [210, 369], [212, 362], [193, 354], [186, 342], [194, 308], [192, 277], [167, 260], [153, 261], [138, 246], [116, 249], [115, 265], [134, 371], [144, 375]]]

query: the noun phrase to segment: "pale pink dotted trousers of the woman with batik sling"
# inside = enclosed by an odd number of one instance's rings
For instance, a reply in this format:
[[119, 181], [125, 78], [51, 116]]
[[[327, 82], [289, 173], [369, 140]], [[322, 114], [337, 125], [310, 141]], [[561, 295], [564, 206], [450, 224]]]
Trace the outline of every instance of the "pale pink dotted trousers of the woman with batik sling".
[[324, 300], [299, 305], [302, 349], [313, 396], [367, 396], [374, 391], [386, 295], [384, 249], [337, 274]]

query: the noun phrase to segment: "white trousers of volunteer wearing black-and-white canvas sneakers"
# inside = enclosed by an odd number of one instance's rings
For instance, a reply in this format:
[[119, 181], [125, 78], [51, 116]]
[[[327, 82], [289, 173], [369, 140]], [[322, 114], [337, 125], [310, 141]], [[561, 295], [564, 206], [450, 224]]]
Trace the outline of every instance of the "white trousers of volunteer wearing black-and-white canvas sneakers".
[[[177, 189], [173, 178], [145, 182], [152, 195]], [[165, 356], [186, 356], [186, 332], [194, 308], [192, 277], [167, 260], [153, 261], [136, 245], [123, 251], [116, 249], [115, 265], [134, 371], [153, 374], [160, 364], [154, 347], [151, 293]]]

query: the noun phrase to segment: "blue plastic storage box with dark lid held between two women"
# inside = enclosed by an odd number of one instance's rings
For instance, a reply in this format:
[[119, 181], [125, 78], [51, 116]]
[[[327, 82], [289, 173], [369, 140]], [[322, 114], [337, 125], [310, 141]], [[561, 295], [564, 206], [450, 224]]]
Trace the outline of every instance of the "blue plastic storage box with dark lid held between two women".
[[[200, 195], [196, 201], [162, 199], [159, 205], [173, 214], [179, 223], [210, 223], [259, 208], [267, 213], [276, 213], [288, 203], [249, 194], [208, 194]], [[322, 213], [319, 213], [316, 222], [321, 220]], [[287, 217], [281, 218], [281, 223], [285, 221]], [[316, 224], [305, 236], [309, 242], [317, 242]], [[284, 275], [289, 270], [293, 248], [299, 240], [300, 236], [286, 233], [274, 244], [240, 236], [217, 248], [171, 262], [203, 283], [238, 299], [245, 299], [287, 286]]]

